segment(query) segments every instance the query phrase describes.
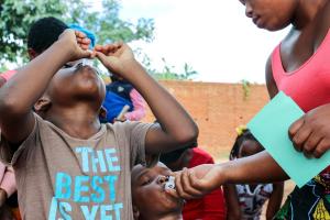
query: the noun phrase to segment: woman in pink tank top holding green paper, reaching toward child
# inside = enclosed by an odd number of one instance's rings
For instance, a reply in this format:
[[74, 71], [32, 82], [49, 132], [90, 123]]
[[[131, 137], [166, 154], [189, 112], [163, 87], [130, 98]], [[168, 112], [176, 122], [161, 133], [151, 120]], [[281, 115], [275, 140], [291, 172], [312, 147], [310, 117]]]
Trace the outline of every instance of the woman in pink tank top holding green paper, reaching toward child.
[[[306, 112], [288, 131], [296, 150], [306, 156], [322, 156], [330, 150], [330, 0], [240, 1], [260, 29], [277, 31], [292, 24], [266, 64], [267, 89], [271, 98], [284, 91]], [[222, 184], [272, 183], [288, 176], [264, 151], [198, 166], [177, 174], [176, 179], [177, 193], [189, 199]], [[330, 220], [330, 167], [296, 188], [274, 219]]]

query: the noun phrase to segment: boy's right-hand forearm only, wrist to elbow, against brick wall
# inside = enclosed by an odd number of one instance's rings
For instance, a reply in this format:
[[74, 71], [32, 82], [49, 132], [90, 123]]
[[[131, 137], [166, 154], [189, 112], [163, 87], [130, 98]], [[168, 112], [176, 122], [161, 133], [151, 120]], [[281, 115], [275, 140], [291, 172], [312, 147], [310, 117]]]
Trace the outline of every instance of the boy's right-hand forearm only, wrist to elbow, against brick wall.
[[197, 138], [198, 128], [190, 116], [138, 62], [125, 72], [127, 79], [142, 95], [168, 135], [183, 144]]

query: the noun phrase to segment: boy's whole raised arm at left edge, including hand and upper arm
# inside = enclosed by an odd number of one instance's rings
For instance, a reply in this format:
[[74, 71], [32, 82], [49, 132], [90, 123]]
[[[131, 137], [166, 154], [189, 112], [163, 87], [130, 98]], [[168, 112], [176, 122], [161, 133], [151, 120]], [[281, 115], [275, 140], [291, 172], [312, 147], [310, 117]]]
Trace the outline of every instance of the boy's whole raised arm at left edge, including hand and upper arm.
[[67, 30], [47, 51], [3, 85], [0, 89], [0, 127], [1, 135], [9, 143], [19, 145], [28, 138], [34, 127], [33, 105], [65, 63], [90, 56], [84, 51], [88, 44], [85, 34]]

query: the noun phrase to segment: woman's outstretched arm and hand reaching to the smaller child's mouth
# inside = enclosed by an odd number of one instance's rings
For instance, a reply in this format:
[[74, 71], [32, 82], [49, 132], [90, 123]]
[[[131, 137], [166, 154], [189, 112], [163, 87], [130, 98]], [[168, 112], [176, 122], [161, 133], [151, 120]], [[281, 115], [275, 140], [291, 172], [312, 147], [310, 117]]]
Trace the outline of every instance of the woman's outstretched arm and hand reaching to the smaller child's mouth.
[[176, 173], [175, 184], [180, 197], [191, 199], [201, 197], [223, 184], [273, 183], [286, 179], [288, 176], [272, 156], [263, 151], [223, 164], [207, 164], [184, 169]]

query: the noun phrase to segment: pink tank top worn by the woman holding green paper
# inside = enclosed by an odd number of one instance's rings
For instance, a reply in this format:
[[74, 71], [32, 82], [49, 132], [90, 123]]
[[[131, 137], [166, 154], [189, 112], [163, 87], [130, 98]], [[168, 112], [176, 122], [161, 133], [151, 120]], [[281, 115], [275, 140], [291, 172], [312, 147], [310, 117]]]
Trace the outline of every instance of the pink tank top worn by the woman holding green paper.
[[[305, 111], [330, 103], [330, 30], [316, 53], [298, 69], [287, 73], [280, 59], [280, 44], [272, 54], [273, 77], [278, 90], [292, 97]], [[322, 174], [330, 174], [330, 166]]]

